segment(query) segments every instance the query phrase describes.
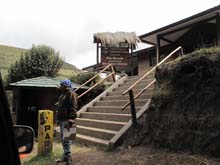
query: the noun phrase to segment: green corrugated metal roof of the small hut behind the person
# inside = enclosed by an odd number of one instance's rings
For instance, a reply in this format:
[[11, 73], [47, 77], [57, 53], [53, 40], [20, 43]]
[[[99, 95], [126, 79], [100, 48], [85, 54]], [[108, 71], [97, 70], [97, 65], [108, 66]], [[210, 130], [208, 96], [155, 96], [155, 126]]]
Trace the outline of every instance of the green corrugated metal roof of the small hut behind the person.
[[[49, 88], [58, 88], [60, 86], [60, 80], [51, 78], [51, 77], [35, 77], [31, 79], [26, 79], [18, 81], [16, 83], [9, 84], [10, 86], [16, 87], [49, 87]], [[72, 88], [77, 88], [79, 84], [72, 83]], [[88, 88], [88, 87], [83, 87]]]

